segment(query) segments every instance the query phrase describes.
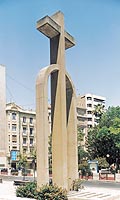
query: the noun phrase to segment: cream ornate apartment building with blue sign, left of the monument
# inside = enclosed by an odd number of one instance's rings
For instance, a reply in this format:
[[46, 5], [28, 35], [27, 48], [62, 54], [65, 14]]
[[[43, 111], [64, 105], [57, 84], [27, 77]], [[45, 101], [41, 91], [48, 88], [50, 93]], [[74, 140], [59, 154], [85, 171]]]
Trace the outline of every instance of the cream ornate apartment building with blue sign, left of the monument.
[[36, 143], [36, 113], [24, 110], [15, 103], [6, 105], [8, 150], [7, 159], [10, 167], [16, 168], [18, 153], [30, 155]]

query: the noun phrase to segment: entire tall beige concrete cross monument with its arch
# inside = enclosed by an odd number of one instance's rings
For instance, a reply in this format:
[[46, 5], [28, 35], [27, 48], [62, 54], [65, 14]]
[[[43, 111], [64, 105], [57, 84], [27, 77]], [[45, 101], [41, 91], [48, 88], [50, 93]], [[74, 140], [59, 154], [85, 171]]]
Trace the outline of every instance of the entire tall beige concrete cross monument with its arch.
[[78, 178], [76, 95], [65, 69], [65, 50], [74, 38], [64, 30], [60, 11], [37, 22], [37, 30], [50, 39], [50, 65], [36, 81], [37, 186], [49, 182], [48, 77], [51, 76], [51, 133], [53, 183], [66, 189]]

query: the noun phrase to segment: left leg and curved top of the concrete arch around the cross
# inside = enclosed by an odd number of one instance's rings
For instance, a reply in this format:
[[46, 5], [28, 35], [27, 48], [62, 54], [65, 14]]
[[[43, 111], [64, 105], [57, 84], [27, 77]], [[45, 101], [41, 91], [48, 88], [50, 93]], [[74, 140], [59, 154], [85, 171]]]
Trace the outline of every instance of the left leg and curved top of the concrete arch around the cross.
[[49, 182], [48, 169], [48, 77], [58, 65], [50, 65], [40, 70], [36, 80], [36, 146], [37, 146], [37, 184]]

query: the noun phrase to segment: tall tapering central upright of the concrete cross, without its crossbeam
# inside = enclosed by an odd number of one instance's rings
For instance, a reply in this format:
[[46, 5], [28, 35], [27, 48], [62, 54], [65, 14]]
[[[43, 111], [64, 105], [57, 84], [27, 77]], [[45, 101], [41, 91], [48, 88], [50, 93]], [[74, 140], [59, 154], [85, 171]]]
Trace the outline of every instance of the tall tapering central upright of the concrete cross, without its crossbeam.
[[61, 27], [60, 34], [50, 39], [50, 62], [59, 65], [59, 71], [51, 74], [52, 173], [54, 183], [68, 188], [64, 16], [58, 12], [51, 18]]

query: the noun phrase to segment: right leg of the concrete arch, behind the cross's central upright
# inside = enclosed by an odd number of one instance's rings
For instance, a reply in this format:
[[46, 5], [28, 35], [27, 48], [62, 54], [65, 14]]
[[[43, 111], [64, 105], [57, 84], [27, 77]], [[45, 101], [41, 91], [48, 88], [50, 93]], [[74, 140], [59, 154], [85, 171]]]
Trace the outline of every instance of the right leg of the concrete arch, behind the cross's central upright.
[[76, 92], [67, 72], [66, 77], [68, 79], [68, 86], [66, 85], [66, 104], [70, 104], [67, 111], [69, 112], [67, 122], [68, 189], [71, 189], [73, 180], [78, 178]]

